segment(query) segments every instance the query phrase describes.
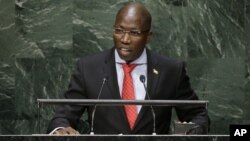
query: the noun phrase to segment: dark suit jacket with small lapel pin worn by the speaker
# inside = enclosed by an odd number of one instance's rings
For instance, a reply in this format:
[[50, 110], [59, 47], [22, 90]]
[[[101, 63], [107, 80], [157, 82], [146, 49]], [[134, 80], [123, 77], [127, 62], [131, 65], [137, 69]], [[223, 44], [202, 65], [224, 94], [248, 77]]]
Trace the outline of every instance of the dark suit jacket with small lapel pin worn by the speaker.
[[[148, 58], [148, 93], [154, 100], [196, 100], [198, 99], [190, 87], [184, 63], [169, 59], [147, 50]], [[117, 83], [114, 48], [102, 53], [88, 56], [77, 62], [69, 88], [64, 94], [68, 99], [96, 99], [103, 78], [108, 80], [104, 85], [100, 99], [121, 99]], [[153, 72], [157, 70], [158, 74]], [[60, 106], [52, 119], [48, 132], [56, 127], [79, 127], [79, 119], [87, 108], [89, 122], [93, 107]], [[156, 115], [156, 133], [169, 132], [172, 107], [154, 107]], [[204, 106], [175, 107], [181, 121], [192, 121], [202, 127], [208, 126], [207, 111]], [[91, 122], [90, 122], [91, 123]], [[81, 125], [80, 125], [81, 126]], [[122, 106], [97, 107], [94, 119], [95, 134], [151, 134], [153, 117], [150, 107], [142, 107], [135, 123], [130, 130]]]

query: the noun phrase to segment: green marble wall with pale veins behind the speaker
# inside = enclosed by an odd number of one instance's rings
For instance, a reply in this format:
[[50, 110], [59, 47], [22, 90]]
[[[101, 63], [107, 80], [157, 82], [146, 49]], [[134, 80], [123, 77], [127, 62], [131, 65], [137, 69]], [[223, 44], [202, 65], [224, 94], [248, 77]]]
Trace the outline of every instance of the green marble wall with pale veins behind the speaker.
[[[36, 99], [58, 98], [77, 58], [112, 47], [115, 14], [128, 1], [0, 0], [0, 134], [37, 133]], [[148, 47], [186, 61], [210, 101], [211, 133], [249, 124], [250, 1], [136, 1], [153, 16]], [[42, 111], [43, 132], [52, 109]]]

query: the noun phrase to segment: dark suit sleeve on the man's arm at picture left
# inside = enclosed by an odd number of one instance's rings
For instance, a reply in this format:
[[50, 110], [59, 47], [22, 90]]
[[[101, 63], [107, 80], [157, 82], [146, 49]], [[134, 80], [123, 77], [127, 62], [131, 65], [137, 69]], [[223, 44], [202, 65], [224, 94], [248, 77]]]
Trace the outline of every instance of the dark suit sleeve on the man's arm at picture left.
[[[68, 90], [64, 93], [65, 99], [86, 99], [83, 63], [77, 62], [76, 69], [71, 76]], [[59, 105], [56, 108], [55, 116], [50, 121], [47, 133], [57, 127], [72, 127], [78, 129], [80, 118], [86, 107], [76, 105]]]

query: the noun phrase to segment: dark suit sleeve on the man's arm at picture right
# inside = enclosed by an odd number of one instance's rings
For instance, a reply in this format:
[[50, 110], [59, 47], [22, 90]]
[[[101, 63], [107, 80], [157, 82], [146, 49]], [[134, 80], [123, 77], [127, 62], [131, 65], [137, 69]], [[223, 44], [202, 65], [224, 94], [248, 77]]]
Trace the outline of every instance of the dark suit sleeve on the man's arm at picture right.
[[[198, 100], [197, 95], [191, 88], [189, 77], [186, 74], [184, 63], [180, 65], [179, 81], [176, 88], [177, 100]], [[176, 113], [180, 121], [193, 122], [202, 128], [203, 133], [209, 129], [209, 117], [205, 105], [185, 105], [177, 106]]]

